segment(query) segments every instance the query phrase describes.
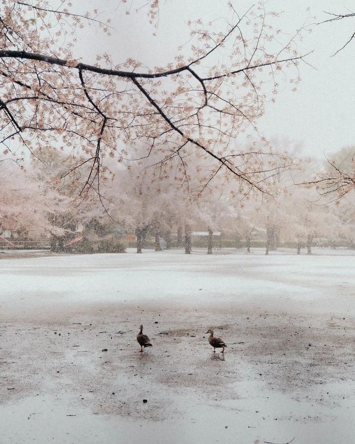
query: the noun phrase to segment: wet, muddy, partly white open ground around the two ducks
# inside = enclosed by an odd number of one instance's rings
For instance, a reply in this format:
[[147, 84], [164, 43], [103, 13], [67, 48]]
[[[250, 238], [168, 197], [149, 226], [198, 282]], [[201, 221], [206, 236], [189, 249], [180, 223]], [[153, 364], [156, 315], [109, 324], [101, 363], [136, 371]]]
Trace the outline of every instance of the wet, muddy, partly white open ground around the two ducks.
[[196, 253], [1, 260], [0, 442], [353, 443], [353, 252]]

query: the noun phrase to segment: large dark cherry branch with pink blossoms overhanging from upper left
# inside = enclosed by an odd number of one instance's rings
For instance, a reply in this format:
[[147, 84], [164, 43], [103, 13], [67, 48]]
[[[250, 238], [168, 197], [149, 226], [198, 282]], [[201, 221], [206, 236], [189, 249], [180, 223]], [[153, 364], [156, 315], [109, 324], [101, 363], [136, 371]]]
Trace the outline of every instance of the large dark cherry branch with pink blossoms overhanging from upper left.
[[[134, 1], [134, 0], [133, 0]], [[97, 2], [101, 6], [101, 2]], [[148, 2], [153, 22], [159, 0]], [[48, 146], [67, 156], [67, 179], [81, 197], [102, 199], [112, 172], [107, 159], [154, 161], [156, 178], [174, 174], [188, 183], [192, 153], [207, 160], [195, 172], [201, 192], [219, 176], [238, 193], [270, 193], [274, 176], [293, 161], [272, 148], [240, 149], [240, 134], [254, 131], [279, 77], [300, 81], [302, 29], [293, 35], [275, 26], [277, 14], [262, 3], [238, 14], [229, 3], [222, 21], [189, 22], [191, 48], [166, 66], [113, 60], [97, 54], [95, 64], [75, 56], [78, 30], [89, 23], [111, 33], [98, 11], [84, 14], [72, 2], [3, 0], [0, 5], [0, 143], [21, 161], [28, 150], [41, 160]], [[120, 10], [119, 10], [120, 11]], [[276, 24], [277, 26], [277, 24]], [[70, 43], [66, 43], [70, 41]], [[283, 79], [283, 77], [282, 77]], [[20, 147], [20, 148], [19, 148]]]

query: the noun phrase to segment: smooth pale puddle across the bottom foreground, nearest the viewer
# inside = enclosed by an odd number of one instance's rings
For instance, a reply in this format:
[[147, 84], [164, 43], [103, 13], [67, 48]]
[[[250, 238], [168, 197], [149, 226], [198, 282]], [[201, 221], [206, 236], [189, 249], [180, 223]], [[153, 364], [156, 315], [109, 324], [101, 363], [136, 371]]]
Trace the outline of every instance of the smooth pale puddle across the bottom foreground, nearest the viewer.
[[[74, 402], [66, 392], [28, 397], [0, 405], [1, 442], [254, 444], [258, 440], [288, 442], [292, 438], [296, 444], [353, 442], [355, 398], [348, 396], [339, 404], [332, 401], [332, 394], [342, 390], [353, 394], [354, 386], [324, 385], [319, 391], [310, 391], [307, 402], [265, 390], [259, 382], [241, 382], [234, 388], [238, 399], [210, 398], [206, 402], [191, 391], [176, 394], [156, 387], [161, 399], [172, 400], [168, 419], [163, 421], [140, 420], [139, 415], [130, 419], [97, 414]], [[150, 400], [141, 408], [149, 410]]]

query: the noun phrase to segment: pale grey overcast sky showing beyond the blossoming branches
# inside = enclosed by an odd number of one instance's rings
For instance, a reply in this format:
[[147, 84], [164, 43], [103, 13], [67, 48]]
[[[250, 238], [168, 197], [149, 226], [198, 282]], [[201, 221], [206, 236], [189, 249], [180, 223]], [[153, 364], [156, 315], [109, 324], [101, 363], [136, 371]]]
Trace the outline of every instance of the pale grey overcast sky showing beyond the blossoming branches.
[[[224, 0], [162, 1], [157, 36], [154, 37], [147, 10], [135, 12], [137, 5], [146, 3], [143, 0], [135, 0], [130, 14], [126, 14], [129, 0], [123, 4], [115, 0], [86, 0], [84, 3], [87, 9], [97, 7], [102, 11], [102, 18], [109, 16], [114, 30], [111, 37], [105, 37], [93, 27], [86, 29], [77, 49], [83, 61], [94, 62], [97, 53], [107, 51], [113, 55], [115, 64], [133, 57], [151, 69], [174, 61], [177, 47], [189, 39], [186, 25], [189, 19], [209, 21], [227, 17], [229, 11]], [[233, 3], [240, 13], [252, 4], [248, 0]], [[284, 11], [279, 19], [282, 29], [293, 32], [304, 23], [327, 18], [324, 11], [355, 11], [355, 0], [269, 0], [266, 8], [268, 11]], [[292, 86], [285, 83], [276, 103], [267, 104], [265, 116], [259, 122], [259, 128], [266, 136], [301, 142], [305, 154], [315, 157], [345, 145], [355, 145], [355, 42], [332, 57], [354, 28], [355, 20], [348, 19], [312, 26], [312, 32], [305, 33], [299, 50], [302, 53], [314, 50], [307, 60], [315, 69], [301, 66], [302, 82], [297, 91], [292, 92]], [[188, 51], [189, 46], [185, 48]]]

